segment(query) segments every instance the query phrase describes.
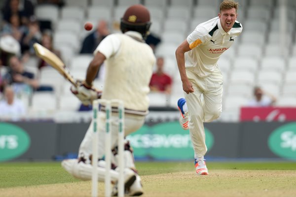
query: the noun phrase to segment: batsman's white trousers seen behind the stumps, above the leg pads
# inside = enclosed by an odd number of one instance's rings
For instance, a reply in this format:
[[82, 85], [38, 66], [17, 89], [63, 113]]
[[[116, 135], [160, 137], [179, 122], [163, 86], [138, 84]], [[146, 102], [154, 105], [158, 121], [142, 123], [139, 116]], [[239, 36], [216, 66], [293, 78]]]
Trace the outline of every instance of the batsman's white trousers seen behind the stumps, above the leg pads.
[[[105, 155], [105, 130], [106, 130], [106, 115], [105, 112], [99, 112], [98, 114], [98, 158], [102, 158]], [[139, 115], [124, 115], [124, 132], [125, 136], [139, 130], [145, 122], [145, 116]], [[111, 147], [117, 146], [118, 142], [118, 115], [112, 113], [111, 116]], [[79, 157], [89, 158], [92, 154], [92, 132], [93, 132], [93, 121], [91, 121], [88, 130], [79, 147]], [[111, 150], [110, 150], [111, 151]]]

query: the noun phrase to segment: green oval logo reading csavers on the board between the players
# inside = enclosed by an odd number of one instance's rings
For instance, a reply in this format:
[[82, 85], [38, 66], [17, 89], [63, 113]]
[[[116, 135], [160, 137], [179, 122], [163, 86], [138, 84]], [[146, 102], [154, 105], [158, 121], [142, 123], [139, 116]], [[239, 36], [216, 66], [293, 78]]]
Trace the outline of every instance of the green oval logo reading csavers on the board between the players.
[[[214, 136], [205, 129], [208, 151], [214, 145]], [[164, 122], [143, 126], [139, 131], [127, 136], [136, 159], [188, 160], [194, 158], [194, 151], [188, 130], [183, 130], [179, 122]]]

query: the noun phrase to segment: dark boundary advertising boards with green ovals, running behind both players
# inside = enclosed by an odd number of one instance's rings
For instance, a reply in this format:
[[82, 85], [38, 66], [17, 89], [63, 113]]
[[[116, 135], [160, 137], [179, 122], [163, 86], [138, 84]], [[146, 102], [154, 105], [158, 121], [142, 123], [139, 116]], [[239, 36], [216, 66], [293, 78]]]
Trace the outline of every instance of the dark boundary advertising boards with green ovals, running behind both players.
[[[77, 157], [89, 123], [0, 123], [0, 162]], [[205, 123], [206, 159], [296, 160], [296, 122]], [[149, 122], [127, 136], [136, 160], [193, 160], [188, 130], [178, 121]]]

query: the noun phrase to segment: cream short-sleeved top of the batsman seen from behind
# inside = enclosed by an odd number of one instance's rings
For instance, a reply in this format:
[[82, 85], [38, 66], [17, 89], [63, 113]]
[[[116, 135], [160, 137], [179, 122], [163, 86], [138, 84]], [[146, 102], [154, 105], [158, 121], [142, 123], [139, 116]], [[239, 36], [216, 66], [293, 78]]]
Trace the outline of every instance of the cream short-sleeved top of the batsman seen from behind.
[[121, 99], [131, 113], [145, 115], [155, 56], [141, 40], [138, 32], [114, 33], [102, 40], [94, 54], [100, 51], [106, 57], [102, 99]]

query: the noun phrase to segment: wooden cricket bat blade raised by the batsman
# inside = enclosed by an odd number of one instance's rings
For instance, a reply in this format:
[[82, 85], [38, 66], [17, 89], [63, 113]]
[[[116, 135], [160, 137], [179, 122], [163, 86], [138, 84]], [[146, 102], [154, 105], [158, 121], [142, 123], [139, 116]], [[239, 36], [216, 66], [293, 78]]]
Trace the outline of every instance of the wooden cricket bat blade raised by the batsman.
[[55, 55], [53, 52], [49, 51], [47, 48], [43, 47], [38, 43], [35, 43], [33, 47], [35, 49], [36, 55], [39, 58], [44, 60], [53, 68], [55, 68], [62, 76], [64, 76], [65, 79], [67, 79], [75, 87], [78, 86], [77, 80], [73, 78], [73, 76], [70, 74], [70, 70], [68, 69], [68, 67], [57, 55]]

